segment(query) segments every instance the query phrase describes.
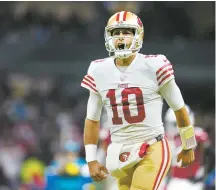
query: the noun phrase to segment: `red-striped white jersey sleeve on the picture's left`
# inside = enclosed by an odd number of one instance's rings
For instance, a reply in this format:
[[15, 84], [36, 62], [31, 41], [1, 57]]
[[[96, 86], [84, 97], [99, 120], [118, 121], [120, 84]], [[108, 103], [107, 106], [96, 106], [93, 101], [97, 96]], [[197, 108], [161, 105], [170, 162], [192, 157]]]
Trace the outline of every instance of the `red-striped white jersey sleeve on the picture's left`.
[[81, 86], [88, 89], [90, 92], [99, 94], [95, 81], [95, 65], [91, 62], [87, 74], [83, 77]]

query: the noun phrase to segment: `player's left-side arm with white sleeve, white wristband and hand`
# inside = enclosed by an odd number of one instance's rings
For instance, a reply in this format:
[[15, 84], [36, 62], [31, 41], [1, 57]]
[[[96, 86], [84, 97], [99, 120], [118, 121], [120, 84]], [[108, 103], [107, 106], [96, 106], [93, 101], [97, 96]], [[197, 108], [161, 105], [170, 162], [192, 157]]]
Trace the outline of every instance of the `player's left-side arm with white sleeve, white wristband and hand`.
[[96, 159], [102, 107], [101, 96], [90, 92], [84, 128], [84, 144], [90, 175], [95, 181], [103, 180], [106, 177], [104, 173], [108, 173], [107, 169]]

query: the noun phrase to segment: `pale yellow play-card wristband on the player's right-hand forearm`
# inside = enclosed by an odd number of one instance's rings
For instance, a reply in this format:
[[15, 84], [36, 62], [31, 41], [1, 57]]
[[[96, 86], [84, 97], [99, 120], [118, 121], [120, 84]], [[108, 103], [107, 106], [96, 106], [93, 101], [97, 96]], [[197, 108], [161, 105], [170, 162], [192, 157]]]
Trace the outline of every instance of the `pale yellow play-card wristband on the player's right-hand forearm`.
[[179, 127], [179, 133], [183, 150], [188, 150], [196, 147], [196, 138], [194, 127], [192, 125], [189, 125], [187, 127]]

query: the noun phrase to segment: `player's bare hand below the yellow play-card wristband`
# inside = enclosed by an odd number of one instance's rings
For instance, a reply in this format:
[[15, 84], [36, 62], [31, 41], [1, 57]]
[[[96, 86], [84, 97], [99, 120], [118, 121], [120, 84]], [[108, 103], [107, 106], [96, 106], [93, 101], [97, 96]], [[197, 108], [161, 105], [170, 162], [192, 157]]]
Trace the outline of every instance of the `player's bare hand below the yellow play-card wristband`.
[[195, 160], [193, 149], [182, 150], [177, 157], [177, 162], [181, 161], [181, 167], [187, 167]]

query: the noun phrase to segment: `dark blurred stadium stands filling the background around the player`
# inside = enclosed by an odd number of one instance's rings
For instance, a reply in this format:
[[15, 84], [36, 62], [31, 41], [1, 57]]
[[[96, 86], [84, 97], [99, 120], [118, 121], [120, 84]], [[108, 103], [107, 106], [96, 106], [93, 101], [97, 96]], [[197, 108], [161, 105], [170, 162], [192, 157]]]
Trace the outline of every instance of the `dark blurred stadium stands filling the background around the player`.
[[104, 27], [121, 10], [143, 21], [141, 53], [172, 62], [214, 152], [215, 2], [0, 2], [0, 189], [19, 189], [26, 159], [48, 165], [65, 139], [82, 145], [80, 81], [90, 61], [108, 56]]

